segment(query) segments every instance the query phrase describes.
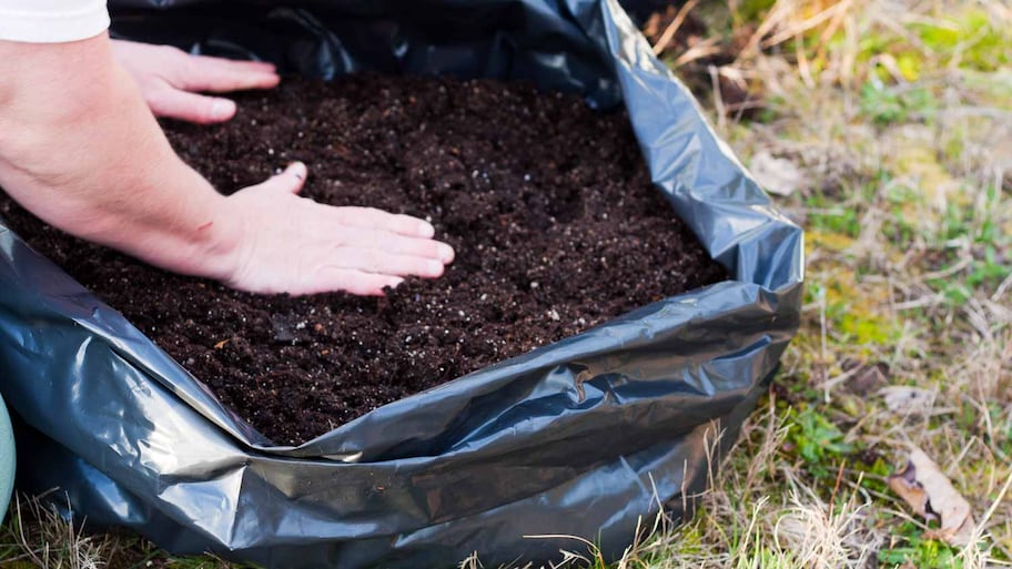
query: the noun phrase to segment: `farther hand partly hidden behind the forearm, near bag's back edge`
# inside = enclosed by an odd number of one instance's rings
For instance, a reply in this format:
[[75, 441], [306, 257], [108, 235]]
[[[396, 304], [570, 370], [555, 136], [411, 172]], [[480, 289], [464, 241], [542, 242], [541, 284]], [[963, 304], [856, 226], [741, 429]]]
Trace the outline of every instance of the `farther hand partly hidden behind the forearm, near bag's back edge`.
[[271, 63], [191, 55], [170, 45], [113, 40], [112, 52], [155, 115], [202, 124], [227, 121], [235, 103], [198, 91], [270, 89], [281, 81]]

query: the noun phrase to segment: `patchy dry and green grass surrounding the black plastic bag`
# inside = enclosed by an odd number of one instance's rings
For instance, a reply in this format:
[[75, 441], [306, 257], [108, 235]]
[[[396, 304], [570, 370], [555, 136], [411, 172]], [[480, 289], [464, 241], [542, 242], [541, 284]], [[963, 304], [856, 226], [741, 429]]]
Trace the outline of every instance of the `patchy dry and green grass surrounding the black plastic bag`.
[[[656, 531], [616, 567], [1012, 566], [1012, 10], [998, 0], [691, 10], [716, 39], [664, 57], [689, 73], [738, 39], [732, 61], [697, 68], [751, 103], [730, 105], [720, 89], [700, 100], [746, 163], [767, 153], [800, 174], [776, 200], [807, 230], [808, 292], [783, 373], [698, 515], [645, 520]], [[911, 446], [970, 500], [971, 545], [932, 539], [935, 525], [887, 489]], [[230, 567], [11, 514], [3, 567]], [[574, 540], [569, 556], [606, 566], [591, 543]]]

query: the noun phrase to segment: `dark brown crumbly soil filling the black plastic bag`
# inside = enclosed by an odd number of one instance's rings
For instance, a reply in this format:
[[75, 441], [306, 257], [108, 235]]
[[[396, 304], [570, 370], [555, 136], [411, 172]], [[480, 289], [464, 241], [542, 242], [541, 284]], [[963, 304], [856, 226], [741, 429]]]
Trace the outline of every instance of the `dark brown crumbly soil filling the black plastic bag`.
[[253, 296], [0, 216], [277, 444], [727, 278], [650, 185], [621, 113], [493, 81], [350, 77], [240, 95], [223, 126], [166, 124], [231, 191], [292, 160], [305, 195], [428, 217], [457, 251], [383, 298]]

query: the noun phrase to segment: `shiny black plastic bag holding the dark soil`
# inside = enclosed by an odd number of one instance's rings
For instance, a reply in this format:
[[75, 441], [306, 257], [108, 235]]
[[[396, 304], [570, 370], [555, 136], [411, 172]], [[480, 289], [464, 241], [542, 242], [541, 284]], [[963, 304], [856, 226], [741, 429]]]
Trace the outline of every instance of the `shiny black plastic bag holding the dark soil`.
[[323, 77], [526, 79], [624, 102], [658, 189], [733, 280], [275, 447], [0, 226], [0, 390], [23, 424], [23, 488], [59, 487], [91, 524], [173, 551], [287, 568], [449, 567], [475, 551], [495, 567], [580, 548], [525, 538], [549, 534], [614, 557], [658, 504], [690, 506], [715, 440], [733, 441], [797, 329], [802, 235], [618, 3], [150, 3], [113, 2], [117, 33]]

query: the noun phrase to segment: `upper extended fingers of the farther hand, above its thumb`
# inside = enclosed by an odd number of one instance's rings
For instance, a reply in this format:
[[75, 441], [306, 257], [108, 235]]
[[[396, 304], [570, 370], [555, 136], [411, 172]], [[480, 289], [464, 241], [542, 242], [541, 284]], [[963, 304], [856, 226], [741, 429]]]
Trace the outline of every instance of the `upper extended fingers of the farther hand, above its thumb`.
[[261, 61], [232, 61], [208, 55], [186, 55], [179, 85], [189, 91], [224, 93], [245, 89], [271, 89], [281, 81], [274, 65]]

